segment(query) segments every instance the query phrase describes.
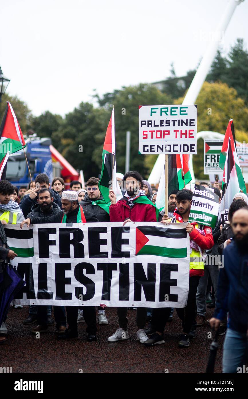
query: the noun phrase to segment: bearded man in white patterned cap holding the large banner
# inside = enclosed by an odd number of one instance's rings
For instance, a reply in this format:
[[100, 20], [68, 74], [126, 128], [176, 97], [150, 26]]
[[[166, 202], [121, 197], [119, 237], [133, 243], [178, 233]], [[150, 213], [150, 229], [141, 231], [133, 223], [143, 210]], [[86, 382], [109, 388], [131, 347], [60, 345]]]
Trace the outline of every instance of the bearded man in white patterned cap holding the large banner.
[[[98, 222], [98, 219], [91, 212], [83, 211], [82, 206], [78, 204], [78, 196], [76, 191], [62, 192], [62, 211], [51, 216], [36, 217], [31, 216], [25, 219], [20, 227], [24, 224], [29, 227], [30, 223], [86, 223]], [[77, 338], [78, 337], [78, 306], [66, 306], [68, 328], [58, 335], [60, 339]], [[87, 324], [86, 332], [88, 332], [88, 342], [96, 341], [96, 310], [94, 306], [84, 306], [84, 319]], [[46, 332], [47, 328], [44, 319], [38, 319], [39, 325], [32, 332]], [[40, 324], [41, 323], [41, 324]]]

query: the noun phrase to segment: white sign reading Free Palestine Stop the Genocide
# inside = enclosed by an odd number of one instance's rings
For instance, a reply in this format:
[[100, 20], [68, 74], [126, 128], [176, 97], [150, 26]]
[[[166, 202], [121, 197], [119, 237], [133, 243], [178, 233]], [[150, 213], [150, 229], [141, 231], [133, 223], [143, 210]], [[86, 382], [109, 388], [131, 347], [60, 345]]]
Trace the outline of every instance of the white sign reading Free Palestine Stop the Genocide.
[[197, 105], [140, 105], [139, 154], [196, 154]]

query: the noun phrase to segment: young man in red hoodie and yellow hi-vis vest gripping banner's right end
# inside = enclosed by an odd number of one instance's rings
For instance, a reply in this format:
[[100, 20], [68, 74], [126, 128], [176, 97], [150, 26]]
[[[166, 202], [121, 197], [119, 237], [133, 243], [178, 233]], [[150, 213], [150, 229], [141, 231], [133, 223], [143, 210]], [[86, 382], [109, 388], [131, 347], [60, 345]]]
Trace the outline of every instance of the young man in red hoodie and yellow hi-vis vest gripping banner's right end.
[[[174, 216], [163, 223], [187, 223], [192, 203], [192, 192], [190, 190], [180, 190], [176, 195], [177, 210]], [[212, 229], [203, 226], [201, 230], [197, 223], [188, 223], [186, 231], [190, 238], [190, 258], [189, 258], [189, 293], [185, 308], [176, 308], [178, 316], [182, 320], [183, 333], [180, 336], [178, 346], [186, 348], [189, 346], [189, 337], [195, 338], [195, 330], [191, 326], [195, 325], [195, 296], [199, 279], [204, 275], [203, 253], [205, 249], [211, 249], [214, 245]], [[164, 344], [164, 327], [170, 314], [170, 308], [157, 308], [152, 310], [152, 329], [154, 334], [144, 343], [145, 346]], [[148, 332], [147, 332], [148, 334]]]

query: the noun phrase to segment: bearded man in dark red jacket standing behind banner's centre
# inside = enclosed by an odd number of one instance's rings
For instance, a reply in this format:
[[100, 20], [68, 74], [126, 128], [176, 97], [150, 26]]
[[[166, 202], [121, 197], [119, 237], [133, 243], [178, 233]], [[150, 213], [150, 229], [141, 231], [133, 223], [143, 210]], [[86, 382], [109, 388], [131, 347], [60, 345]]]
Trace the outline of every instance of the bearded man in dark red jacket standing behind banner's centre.
[[[123, 221], [123, 225], [130, 221], [139, 222], [156, 222], [158, 209], [148, 199], [143, 192], [143, 178], [136, 172], [127, 172], [123, 177], [124, 188], [126, 192], [122, 199], [116, 202], [116, 196], [113, 191], [109, 191], [109, 199], [111, 205], [109, 207], [109, 216], [111, 222]], [[119, 318], [119, 328], [108, 338], [109, 342], [127, 340], [129, 338], [127, 332], [127, 308], [118, 307], [117, 315]], [[144, 331], [146, 322], [146, 308], [137, 308], [137, 333], [136, 338], [141, 344], [148, 337]]]

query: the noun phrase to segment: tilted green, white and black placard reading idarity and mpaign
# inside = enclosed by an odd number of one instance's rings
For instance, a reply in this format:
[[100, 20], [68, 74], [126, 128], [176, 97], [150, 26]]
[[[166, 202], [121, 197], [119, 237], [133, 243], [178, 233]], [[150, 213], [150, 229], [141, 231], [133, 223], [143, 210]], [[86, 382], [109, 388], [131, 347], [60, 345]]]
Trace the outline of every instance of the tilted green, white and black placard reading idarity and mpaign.
[[195, 184], [189, 222], [215, 227], [219, 214], [219, 197], [204, 186]]

